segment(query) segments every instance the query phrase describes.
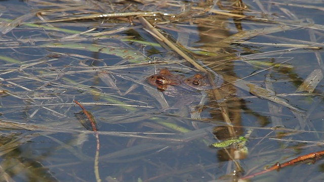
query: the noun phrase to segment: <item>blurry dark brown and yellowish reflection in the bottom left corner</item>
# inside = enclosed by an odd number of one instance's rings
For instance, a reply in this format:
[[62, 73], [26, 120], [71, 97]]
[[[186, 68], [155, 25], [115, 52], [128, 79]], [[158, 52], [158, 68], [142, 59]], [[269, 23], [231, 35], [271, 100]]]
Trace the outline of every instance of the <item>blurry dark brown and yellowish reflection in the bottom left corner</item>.
[[[31, 142], [37, 134], [2, 134], [1, 181], [58, 181], [50, 169], [44, 166], [49, 151], [34, 153]], [[47, 162], [45, 162], [47, 163]]]

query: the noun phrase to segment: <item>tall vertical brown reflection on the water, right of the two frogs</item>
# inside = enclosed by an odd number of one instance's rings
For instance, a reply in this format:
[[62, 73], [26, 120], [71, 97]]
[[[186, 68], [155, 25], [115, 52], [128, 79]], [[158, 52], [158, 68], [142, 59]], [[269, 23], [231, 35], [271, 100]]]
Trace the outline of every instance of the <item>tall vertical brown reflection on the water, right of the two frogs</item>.
[[[219, 24], [216, 24], [215, 22], [218, 22]], [[230, 52], [234, 52], [230, 49], [226, 49], [228, 45], [225, 44], [218, 44], [221, 39], [228, 37], [231, 33], [226, 30], [221, 22], [224, 22], [222, 20], [215, 20], [213, 27], [207, 27], [206, 25], [199, 25], [199, 36], [200, 41], [199, 43], [202, 43], [199, 48], [203, 50], [207, 50], [209, 52], [215, 52], [215, 53], [223, 53], [222, 55], [226, 55], [226, 59], [234, 59], [234, 55], [231, 55]], [[217, 60], [217, 58], [215, 58]], [[211, 118], [217, 120], [217, 121], [226, 121], [224, 120], [222, 112], [224, 110], [220, 110], [219, 104], [221, 104], [225, 107], [225, 112], [229, 116], [231, 120], [232, 126], [216, 126], [213, 129], [213, 134], [215, 135], [215, 138], [220, 141], [224, 141], [227, 139], [237, 139], [238, 136], [242, 135], [244, 133], [244, 129], [240, 126], [241, 125], [241, 110], [242, 106], [244, 106], [244, 101], [240, 99], [235, 99], [235, 96], [237, 93], [237, 88], [232, 84], [227, 84], [229, 81], [229, 78], [227, 78], [227, 75], [230, 75], [232, 77], [235, 77], [235, 68], [234, 63], [228, 61], [226, 64], [220, 64], [215, 66], [213, 63], [216, 60], [209, 61], [210, 58], [208, 58], [206, 61], [203, 61], [204, 64], [210, 65], [211, 68], [213, 68], [213, 71], [215, 71], [217, 74], [222, 75], [223, 82], [218, 83], [220, 85], [220, 93], [222, 96], [221, 101], [216, 101], [215, 98], [210, 98], [210, 100], [214, 102], [209, 103], [210, 109], [210, 116]], [[227, 81], [225, 81], [227, 80]], [[234, 80], [231, 80], [234, 81]], [[227, 85], [225, 85], [227, 84]], [[222, 86], [225, 85], [225, 86]], [[210, 95], [211, 96], [211, 95]], [[228, 100], [231, 99], [231, 100]], [[237, 127], [238, 126], [238, 127]], [[232, 159], [244, 159], [245, 156], [240, 155], [239, 158], [234, 156], [234, 152], [237, 151], [235, 145], [232, 147], [226, 148], [226, 149], [220, 149], [217, 151], [217, 158], [219, 161], [228, 161]], [[229, 155], [230, 154], [230, 155]], [[237, 170], [237, 169], [236, 169]]]

